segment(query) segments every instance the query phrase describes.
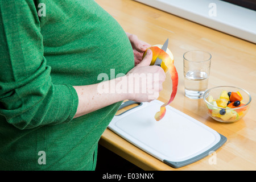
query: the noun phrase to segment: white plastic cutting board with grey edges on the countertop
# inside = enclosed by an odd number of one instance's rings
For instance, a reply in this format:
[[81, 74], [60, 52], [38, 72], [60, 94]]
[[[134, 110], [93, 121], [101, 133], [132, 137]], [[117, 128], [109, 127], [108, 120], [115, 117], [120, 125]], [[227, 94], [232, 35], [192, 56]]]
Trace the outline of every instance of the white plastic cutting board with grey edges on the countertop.
[[226, 142], [226, 137], [187, 114], [166, 107], [166, 115], [155, 121], [163, 102], [142, 102], [116, 115], [109, 129], [164, 163], [179, 168], [208, 156]]

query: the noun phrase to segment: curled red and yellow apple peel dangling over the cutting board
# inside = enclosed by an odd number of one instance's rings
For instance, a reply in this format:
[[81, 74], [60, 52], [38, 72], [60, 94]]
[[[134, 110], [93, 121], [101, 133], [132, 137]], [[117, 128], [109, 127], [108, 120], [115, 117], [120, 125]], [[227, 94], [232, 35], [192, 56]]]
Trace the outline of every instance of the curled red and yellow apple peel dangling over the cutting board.
[[[167, 48], [166, 52], [163, 51], [161, 48], [162, 48], [162, 45], [156, 45], [156, 46], [152, 46], [152, 47], [148, 48], [148, 49], [151, 49], [152, 54], [153, 54], [152, 61], [151, 61], [150, 65], [155, 64], [156, 58], [162, 59], [161, 68], [163, 68], [165, 73], [167, 71], [169, 71], [170, 75], [171, 75], [172, 93], [171, 93], [170, 100], [168, 102], [164, 103], [160, 107], [160, 111], [158, 111], [155, 114], [156, 121], [160, 121], [160, 119], [162, 119], [164, 117], [164, 115], [166, 114], [166, 106], [169, 105], [174, 100], [176, 93], [177, 93], [177, 85], [178, 85], [178, 81], [179, 81], [177, 70], [174, 66], [174, 56], [172, 55], [172, 52], [168, 48]], [[143, 57], [146, 55], [146, 52], [144, 52]]]

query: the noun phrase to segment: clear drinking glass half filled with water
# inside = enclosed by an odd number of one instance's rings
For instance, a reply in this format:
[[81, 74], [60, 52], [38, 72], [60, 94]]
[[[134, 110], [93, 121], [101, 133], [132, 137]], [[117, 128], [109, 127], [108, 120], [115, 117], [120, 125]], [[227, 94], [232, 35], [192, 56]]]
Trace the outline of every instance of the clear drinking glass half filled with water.
[[185, 77], [185, 96], [188, 98], [203, 98], [208, 88], [210, 75], [210, 60], [212, 55], [205, 51], [188, 51], [183, 55]]

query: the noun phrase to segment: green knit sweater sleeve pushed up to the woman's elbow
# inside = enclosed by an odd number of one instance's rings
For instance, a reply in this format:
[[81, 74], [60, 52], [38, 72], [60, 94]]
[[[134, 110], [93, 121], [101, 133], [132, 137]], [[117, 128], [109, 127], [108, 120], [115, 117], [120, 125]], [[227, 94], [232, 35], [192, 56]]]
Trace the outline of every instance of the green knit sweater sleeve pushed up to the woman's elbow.
[[0, 115], [18, 129], [69, 122], [78, 97], [54, 85], [33, 0], [0, 1]]

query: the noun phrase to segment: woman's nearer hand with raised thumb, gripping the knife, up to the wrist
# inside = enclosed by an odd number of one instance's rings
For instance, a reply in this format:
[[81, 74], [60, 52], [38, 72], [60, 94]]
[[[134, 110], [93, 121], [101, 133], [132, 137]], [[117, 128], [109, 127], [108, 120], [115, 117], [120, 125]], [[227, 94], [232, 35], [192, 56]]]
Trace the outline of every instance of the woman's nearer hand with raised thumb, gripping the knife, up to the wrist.
[[152, 51], [148, 49], [144, 59], [126, 74], [127, 99], [137, 102], [150, 102], [159, 97], [166, 79], [164, 70], [151, 65]]

